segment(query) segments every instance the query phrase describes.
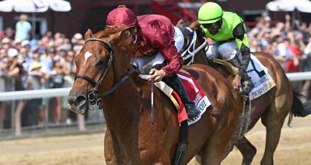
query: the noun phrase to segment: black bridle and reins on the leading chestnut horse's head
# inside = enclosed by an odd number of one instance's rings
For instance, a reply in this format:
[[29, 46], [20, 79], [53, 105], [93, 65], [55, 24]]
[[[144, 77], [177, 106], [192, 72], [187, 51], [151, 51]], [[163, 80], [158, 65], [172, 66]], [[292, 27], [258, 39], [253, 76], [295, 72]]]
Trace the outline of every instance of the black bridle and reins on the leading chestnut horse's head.
[[[100, 102], [99, 98], [102, 98], [104, 96], [107, 96], [107, 95], [111, 94], [119, 85], [121, 85], [126, 79], [128, 79], [128, 77], [130, 77], [134, 73], [135, 67], [133, 67], [130, 71], [126, 72], [126, 74], [115, 84], [115, 77], [116, 77], [115, 73], [116, 73], [116, 71], [115, 71], [115, 67], [114, 67], [114, 48], [113, 48], [113, 46], [111, 44], [109, 44], [107, 41], [105, 41], [103, 39], [99, 39], [99, 38], [87, 39], [85, 41], [85, 43], [88, 42], [88, 41], [100, 41], [100, 42], [104, 43], [110, 49], [109, 61], [108, 61], [107, 67], [106, 67], [105, 71], [103, 71], [99, 81], [95, 82], [93, 79], [91, 79], [90, 77], [85, 76], [85, 75], [77, 75], [76, 78], [75, 78], [75, 80], [77, 80], [77, 78], [82, 78], [82, 79], [88, 81], [89, 83], [91, 83], [94, 86], [93, 91], [87, 95], [88, 102], [91, 105], [97, 104], [98, 109], [101, 109], [102, 105], [101, 105], [101, 102]], [[110, 69], [111, 64], [112, 64], [113, 72], [114, 72], [114, 83], [113, 83], [113, 86], [108, 91], [106, 91], [105, 93], [97, 94], [97, 90], [99, 89], [102, 81], [104, 80], [104, 78], [108, 74], [108, 71]], [[88, 108], [86, 109], [86, 111], [87, 110], [88, 110]]]

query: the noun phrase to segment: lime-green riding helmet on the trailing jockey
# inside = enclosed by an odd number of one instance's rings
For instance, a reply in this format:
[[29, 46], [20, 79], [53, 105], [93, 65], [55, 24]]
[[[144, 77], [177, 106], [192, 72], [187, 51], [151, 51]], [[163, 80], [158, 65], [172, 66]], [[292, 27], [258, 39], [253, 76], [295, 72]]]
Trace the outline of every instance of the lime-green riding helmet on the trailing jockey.
[[211, 24], [220, 20], [222, 8], [215, 2], [207, 2], [200, 7], [198, 17], [200, 24]]

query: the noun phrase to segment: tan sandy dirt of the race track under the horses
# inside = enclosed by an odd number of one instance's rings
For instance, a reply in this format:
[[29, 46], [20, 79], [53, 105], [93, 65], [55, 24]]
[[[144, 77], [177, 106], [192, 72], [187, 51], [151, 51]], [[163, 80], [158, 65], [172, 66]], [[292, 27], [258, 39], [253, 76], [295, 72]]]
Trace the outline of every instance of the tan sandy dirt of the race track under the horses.
[[[260, 164], [266, 131], [259, 121], [247, 136], [257, 148], [252, 164]], [[284, 126], [280, 143], [274, 154], [274, 163], [282, 165], [311, 164], [311, 116], [295, 118], [294, 126]], [[223, 161], [223, 165], [240, 164], [238, 150]], [[55, 136], [0, 141], [0, 165], [82, 165], [104, 163], [104, 134]], [[194, 165], [193, 162], [189, 165]]]

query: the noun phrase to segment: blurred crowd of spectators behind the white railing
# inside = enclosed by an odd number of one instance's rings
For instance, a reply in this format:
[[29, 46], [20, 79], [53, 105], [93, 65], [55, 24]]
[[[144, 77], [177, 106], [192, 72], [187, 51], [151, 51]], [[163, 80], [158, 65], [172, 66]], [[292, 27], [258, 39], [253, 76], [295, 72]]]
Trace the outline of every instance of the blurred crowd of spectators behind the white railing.
[[[252, 52], [273, 55], [286, 72], [311, 71], [311, 24], [295, 22], [294, 28], [288, 14], [284, 22], [272, 24], [266, 13], [256, 22], [247, 27]], [[15, 35], [0, 36], [0, 92], [71, 87], [76, 76], [74, 57], [84, 44], [82, 34], [66, 36], [47, 31], [31, 39], [31, 29], [27, 15], [22, 14]], [[300, 82], [298, 86], [301, 85]], [[304, 83], [304, 88], [309, 85], [309, 81]], [[0, 129], [10, 125], [7, 112], [11, 104], [12, 101], [0, 103]], [[22, 126], [44, 124], [47, 106], [51, 122], [70, 124], [76, 120], [73, 112], [64, 110], [66, 98], [32, 99], [23, 107]]]

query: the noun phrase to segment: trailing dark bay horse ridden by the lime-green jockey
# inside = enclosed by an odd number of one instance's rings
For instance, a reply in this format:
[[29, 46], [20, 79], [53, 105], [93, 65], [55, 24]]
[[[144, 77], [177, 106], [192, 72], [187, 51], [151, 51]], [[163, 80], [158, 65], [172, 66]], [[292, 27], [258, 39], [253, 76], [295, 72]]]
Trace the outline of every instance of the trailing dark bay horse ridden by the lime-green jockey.
[[[186, 24], [180, 20], [176, 26], [180, 25], [185, 26]], [[202, 28], [199, 26], [198, 21], [195, 21], [187, 26], [189, 26], [190, 29], [196, 31], [196, 48], [198, 48], [204, 42], [203, 37], [205, 37], [205, 34]], [[248, 125], [247, 131], [252, 129], [257, 121], [261, 118], [262, 124], [266, 127], [267, 132], [266, 146], [261, 164], [272, 165], [273, 154], [280, 140], [281, 129], [288, 113], [290, 112], [289, 121], [287, 124], [290, 126], [290, 122], [292, 121], [293, 116], [304, 117], [311, 113], [311, 111], [310, 109], [307, 109], [308, 106], [303, 105], [301, 102], [302, 95], [293, 90], [292, 86], [290, 85], [290, 81], [285, 74], [285, 71], [274, 57], [265, 52], [252, 52], [252, 54], [257, 57], [265, 67], [267, 67], [269, 74], [272, 76], [274, 82], [276, 83], [276, 86], [270, 89], [267, 93], [251, 101], [251, 108], [253, 109], [253, 112], [250, 116], [250, 123]], [[232, 87], [234, 75], [232, 75], [232, 73], [223, 65], [208, 60], [205, 55], [204, 48], [195, 54], [193, 63], [211, 66], [212, 68], [216, 69], [222, 76], [224, 76], [228, 84], [231, 85], [231, 90], [234, 91], [234, 98], [239, 103], [238, 108], [240, 112], [242, 112], [242, 97], [239, 95], [238, 90], [235, 90]], [[236, 139], [236, 141], [233, 140], [232, 143], [243, 155], [242, 164], [251, 164], [257, 152], [253, 144], [251, 144], [245, 136]], [[233, 146], [229, 146], [225, 156], [227, 156], [232, 149]], [[200, 160], [199, 157], [196, 157], [196, 159], [197, 161]]]

